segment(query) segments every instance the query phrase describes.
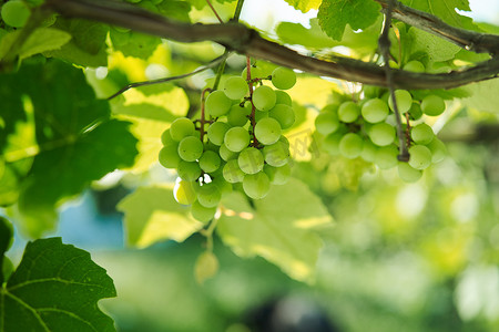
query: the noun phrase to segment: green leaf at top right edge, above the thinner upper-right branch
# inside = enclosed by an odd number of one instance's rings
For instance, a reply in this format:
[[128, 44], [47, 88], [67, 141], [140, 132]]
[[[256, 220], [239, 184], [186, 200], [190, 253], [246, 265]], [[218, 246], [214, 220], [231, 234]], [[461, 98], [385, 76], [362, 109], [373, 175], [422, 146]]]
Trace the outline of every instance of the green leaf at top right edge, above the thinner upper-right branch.
[[456, 9], [470, 11], [468, 0], [400, 0], [400, 2], [414, 9], [434, 14], [450, 25], [478, 30], [472, 19], [461, 15], [456, 11]]

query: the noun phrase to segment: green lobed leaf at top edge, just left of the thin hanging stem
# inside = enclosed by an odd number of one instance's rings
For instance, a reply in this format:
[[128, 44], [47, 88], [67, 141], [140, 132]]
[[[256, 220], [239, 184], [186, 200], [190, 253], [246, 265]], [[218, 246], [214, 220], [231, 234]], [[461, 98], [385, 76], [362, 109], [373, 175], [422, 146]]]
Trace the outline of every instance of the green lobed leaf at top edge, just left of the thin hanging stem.
[[373, 0], [324, 0], [317, 19], [324, 32], [339, 41], [347, 24], [353, 30], [366, 29], [376, 22], [380, 9]]

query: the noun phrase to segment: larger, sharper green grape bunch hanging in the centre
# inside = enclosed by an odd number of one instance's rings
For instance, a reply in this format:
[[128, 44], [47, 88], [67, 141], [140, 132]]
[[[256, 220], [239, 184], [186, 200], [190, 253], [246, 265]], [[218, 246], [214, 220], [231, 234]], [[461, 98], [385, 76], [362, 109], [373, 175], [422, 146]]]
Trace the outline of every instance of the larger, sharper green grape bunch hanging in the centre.
[[283, 90], [293, 87], [296, 74], [285, 68], [266, 76], [257, 68], [249, 73], [251, 79], [245, 69], [211, 92], [200, 120], [176, 118], [162, 134], [160, 164], [176, 169], [175, 199], [191, 205], [200, 221], [212, 219], [222, 196], [233, 189], [261, 199], [272, 184], [289, 177], [289, 143], [282, 132], [293, 126], [295, 113]]

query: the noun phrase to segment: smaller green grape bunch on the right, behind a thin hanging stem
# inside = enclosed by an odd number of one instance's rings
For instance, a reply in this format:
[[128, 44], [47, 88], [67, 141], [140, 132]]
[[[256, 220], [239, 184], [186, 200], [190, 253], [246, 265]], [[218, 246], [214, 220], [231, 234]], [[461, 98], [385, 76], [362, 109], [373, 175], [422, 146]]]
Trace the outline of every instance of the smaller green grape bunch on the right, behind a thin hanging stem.
[[[420, 62], [411, 61], [405, 69], [424, 71], [425, 68]], [[431, 92], [417, 95], [406, 90], [395, 91], [405, 142], [409, 146], [408, 163], [397, 158], [399, 146], [394, 105], [389, 92], [384, 89], [364, 86], [359, 101], [335, 95], [335, 102], [326, 105], [315, 120], [315, 136], [323, 149], [333, 156], [360, 157], [380, 169], [398, 167], [404, 181], [417, 181], [425, 168], [442, 160], [446, 155], [444, 143], [422, 120], [424, 116], [440, 115], [446, 104]]]

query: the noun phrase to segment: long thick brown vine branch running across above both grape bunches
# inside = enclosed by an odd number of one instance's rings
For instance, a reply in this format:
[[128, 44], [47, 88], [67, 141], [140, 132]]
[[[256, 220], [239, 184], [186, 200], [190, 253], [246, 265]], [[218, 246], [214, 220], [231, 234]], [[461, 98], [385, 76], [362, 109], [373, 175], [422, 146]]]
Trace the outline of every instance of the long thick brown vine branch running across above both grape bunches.
[[[106, 0], [48, 0], [45, 6], [68, 18], [120, 25], [179, 42], [213, 41], [241, 54], [267, 60], [310, 74], [387, 86], [384, 69], [374, 63], [344, 56], [334, 56], [330, 61], [325, 61], [302, 55], [278, 43], [265, 40], [255, 30], [241, 23], [189, 24], [172, 21], [122, 2]], [[499, 48], [499, 44], [497, 46]], [[491, 59], [473, 68], [447, 74], [421, 74], [393, 70], [393, 83], [395, 87], [406, 90], [451, 89], [496, 77], [498, 73], [499, 59]]]

